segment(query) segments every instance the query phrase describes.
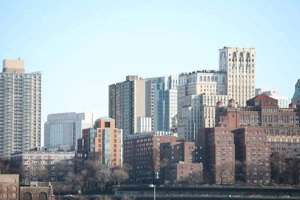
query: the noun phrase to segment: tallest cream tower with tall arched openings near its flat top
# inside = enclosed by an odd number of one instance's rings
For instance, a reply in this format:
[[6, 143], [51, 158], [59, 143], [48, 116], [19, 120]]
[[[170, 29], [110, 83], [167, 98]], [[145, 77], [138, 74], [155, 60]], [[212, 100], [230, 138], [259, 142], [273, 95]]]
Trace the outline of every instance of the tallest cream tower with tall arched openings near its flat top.
[[227, 94], [241, 107], [255, 96], [255, 48], [219, 49], [219, 70], [226, 72]]

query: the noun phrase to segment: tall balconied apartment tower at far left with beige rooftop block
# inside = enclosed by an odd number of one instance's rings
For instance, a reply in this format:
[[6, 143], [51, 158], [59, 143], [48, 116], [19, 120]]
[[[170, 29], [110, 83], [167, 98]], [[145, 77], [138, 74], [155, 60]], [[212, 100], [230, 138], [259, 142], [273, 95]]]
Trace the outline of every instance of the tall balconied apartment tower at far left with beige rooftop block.
[[24, 60], [4, 59], [0, 73], [0, 156], [40, 149], [41, 72], [24, 73]]

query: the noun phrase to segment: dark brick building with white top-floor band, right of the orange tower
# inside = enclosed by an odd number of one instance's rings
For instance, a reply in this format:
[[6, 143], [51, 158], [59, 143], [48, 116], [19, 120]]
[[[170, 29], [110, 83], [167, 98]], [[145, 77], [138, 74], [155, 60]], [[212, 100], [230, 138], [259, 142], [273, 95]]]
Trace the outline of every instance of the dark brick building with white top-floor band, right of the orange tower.
[[124, 136], [124, 162], [133, 167], [135, 182], [159, 179], [160, 143], [175, 141], [171, 131], [150, 131]]

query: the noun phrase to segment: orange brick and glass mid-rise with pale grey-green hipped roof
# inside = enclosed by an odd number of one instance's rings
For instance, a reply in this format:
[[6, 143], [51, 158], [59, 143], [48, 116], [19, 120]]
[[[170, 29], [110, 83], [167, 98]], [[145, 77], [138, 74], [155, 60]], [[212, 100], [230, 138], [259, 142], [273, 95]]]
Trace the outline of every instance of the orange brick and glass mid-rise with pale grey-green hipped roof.
[[111, 167], [120, 166], [123, 162], [123, 132], [115, 128], [114, 119], [107, 116], [98, 118], [93, 128], [82, 130], [78, 139], [77, 154], [85, 160], [98, 160]]

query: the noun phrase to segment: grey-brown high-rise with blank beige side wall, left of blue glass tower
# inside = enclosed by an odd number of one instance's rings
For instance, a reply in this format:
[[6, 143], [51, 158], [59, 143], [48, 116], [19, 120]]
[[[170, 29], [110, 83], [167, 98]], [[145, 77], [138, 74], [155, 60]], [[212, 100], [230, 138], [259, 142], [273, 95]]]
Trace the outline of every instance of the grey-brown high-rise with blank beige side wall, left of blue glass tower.
[[[137, 117], [154, 116], [153, 82], [128, 75], [126, 81], [109, 85], [109, 117], [124, 135], [137, 132]], [[152, 128], [153, 129], [153, 128]]]

